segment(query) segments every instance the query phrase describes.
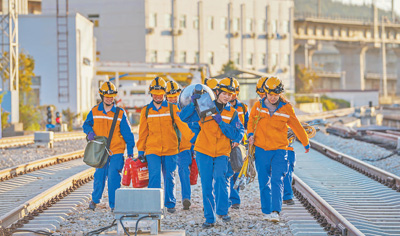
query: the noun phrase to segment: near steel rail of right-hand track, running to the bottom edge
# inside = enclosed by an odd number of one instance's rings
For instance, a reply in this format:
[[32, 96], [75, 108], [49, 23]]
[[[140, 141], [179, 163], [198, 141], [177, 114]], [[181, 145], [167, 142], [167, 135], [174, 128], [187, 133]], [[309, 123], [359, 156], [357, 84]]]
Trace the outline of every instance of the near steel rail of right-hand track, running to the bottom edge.
[[295, 174], [293, 174], [292, 186], [295, 189], [296, 197], [314, 215], [314, 218], [325, 227], [325, 230], [335, 235], [364, 235]]

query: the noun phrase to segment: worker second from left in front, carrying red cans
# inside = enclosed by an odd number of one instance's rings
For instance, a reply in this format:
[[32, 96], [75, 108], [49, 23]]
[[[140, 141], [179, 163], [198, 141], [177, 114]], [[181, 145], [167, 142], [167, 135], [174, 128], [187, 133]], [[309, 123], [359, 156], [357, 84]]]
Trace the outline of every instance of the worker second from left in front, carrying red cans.
[[161, 171], [164, 177], [164, 205], [169, 213], [176, 211], [175, 170], [179, 150], [179, 129], [184, 139], [191, 139], [192, 131], [179, 116], [178, 107], [168, 103], [165, 97], [166, 82], [156, 77], [150, 84], [153, 100], [140, 114], [138, 158], [147, 159], [149, 188], [161, 188]]

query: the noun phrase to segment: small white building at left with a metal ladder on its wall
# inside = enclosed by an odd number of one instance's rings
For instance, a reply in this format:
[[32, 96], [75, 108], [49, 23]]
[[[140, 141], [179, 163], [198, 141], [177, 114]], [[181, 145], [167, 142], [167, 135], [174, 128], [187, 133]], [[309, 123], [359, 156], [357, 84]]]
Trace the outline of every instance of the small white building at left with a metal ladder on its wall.
[[[60, 26], [59, 26], [60, 27]], [[68, 50], [66, 43], [57, 40], [56, 15], [20, 15], [20, 51], [35, 60], [34, 81], [40, 105], [55, 105], [58, 111], [70, 108], [82, 113], [92, 108], [95, 47], [93, 23], [80, 14], [68, 16]], [[57, 47], [58, 45], [58, 47]], [[66, 53], [68, 57], [60, 57]], [[59, 79], [59, 60], [68, 58], [68, 79]], [[64, 99], [60, 99], [59, 85], [63, 87]], [[68, 99], [66, 99], [68, 95]]]

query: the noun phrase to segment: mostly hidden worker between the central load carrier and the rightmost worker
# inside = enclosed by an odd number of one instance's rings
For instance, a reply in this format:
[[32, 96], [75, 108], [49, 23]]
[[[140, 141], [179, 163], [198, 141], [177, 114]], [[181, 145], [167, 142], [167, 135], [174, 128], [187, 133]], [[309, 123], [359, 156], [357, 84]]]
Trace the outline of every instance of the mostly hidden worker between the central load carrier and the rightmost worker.
[[[235, 94], [232, 95], [231, 100], [229, 103], [233, 106], [233, 108], [236, 109], [238, 112], [239, 120], [242, 122], [244, 125], [244, 129], [247, 129], [247, 122], [249, 120], [249, 113], [248, 113], [248, 108], [247, 105], [239, 101], [238, 95], [240, 92], [240, 84], [235, 78], [231, 78], [233, 80], [233, 83], [235, 84]], [[244, 143], [243, 140], [236, 140], [232, 142], [232, 148], [236, 147], [239, 145], [240, 142]], [[239, 209], [240, 208], [240, 196], [239, 196], [239, 188], [234, 189], [233, 186], [235, 185], [235, 181], [238, 177], [239, 173], [234, 173], [232, 170], [231, 162], [229, 161], [228, 163], [228, 181], [230, 185], [230, 192], [229, 192], [229, 205], [232, 207], [232, 209]]]

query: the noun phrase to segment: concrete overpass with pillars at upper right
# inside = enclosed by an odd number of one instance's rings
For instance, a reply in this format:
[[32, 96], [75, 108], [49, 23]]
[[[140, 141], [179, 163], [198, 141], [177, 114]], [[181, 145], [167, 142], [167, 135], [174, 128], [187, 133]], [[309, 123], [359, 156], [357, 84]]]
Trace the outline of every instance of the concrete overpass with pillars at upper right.
[[[321, 50], [324, 43], [331, 43], [340, 54], [340, 72], [330, 73], [332, 78], [340, 79], [340, 89], [365, 90], [366, 80], [375, 81], [382, 78], [384, 88], [382, 95], [387, 95], [387, 77], [390, 85], [396, 87], [400, 94], [400, 23], [388, 20], [378, 21], [377, 11], [371, 19], [335, 19], [313, 15], [295, 15], [294, 49], [296, 64], [311, 67], [313, 54]], [[383, 55], [382, 55], [382, 48]], [[366, 73], [366, 52], [371, 57], [379, 58], [372, 64], [373, 71]], [[386, 76], [386, 54], [396, 55], [397, 76]], [[377, 74], [381, 76], [377, 77]], [[385, 75], [384, 75], [385, 74]], [[370, 82], [373, 83], [373, 82]], [[389, 86], [390, 87], [390, 86]]]

